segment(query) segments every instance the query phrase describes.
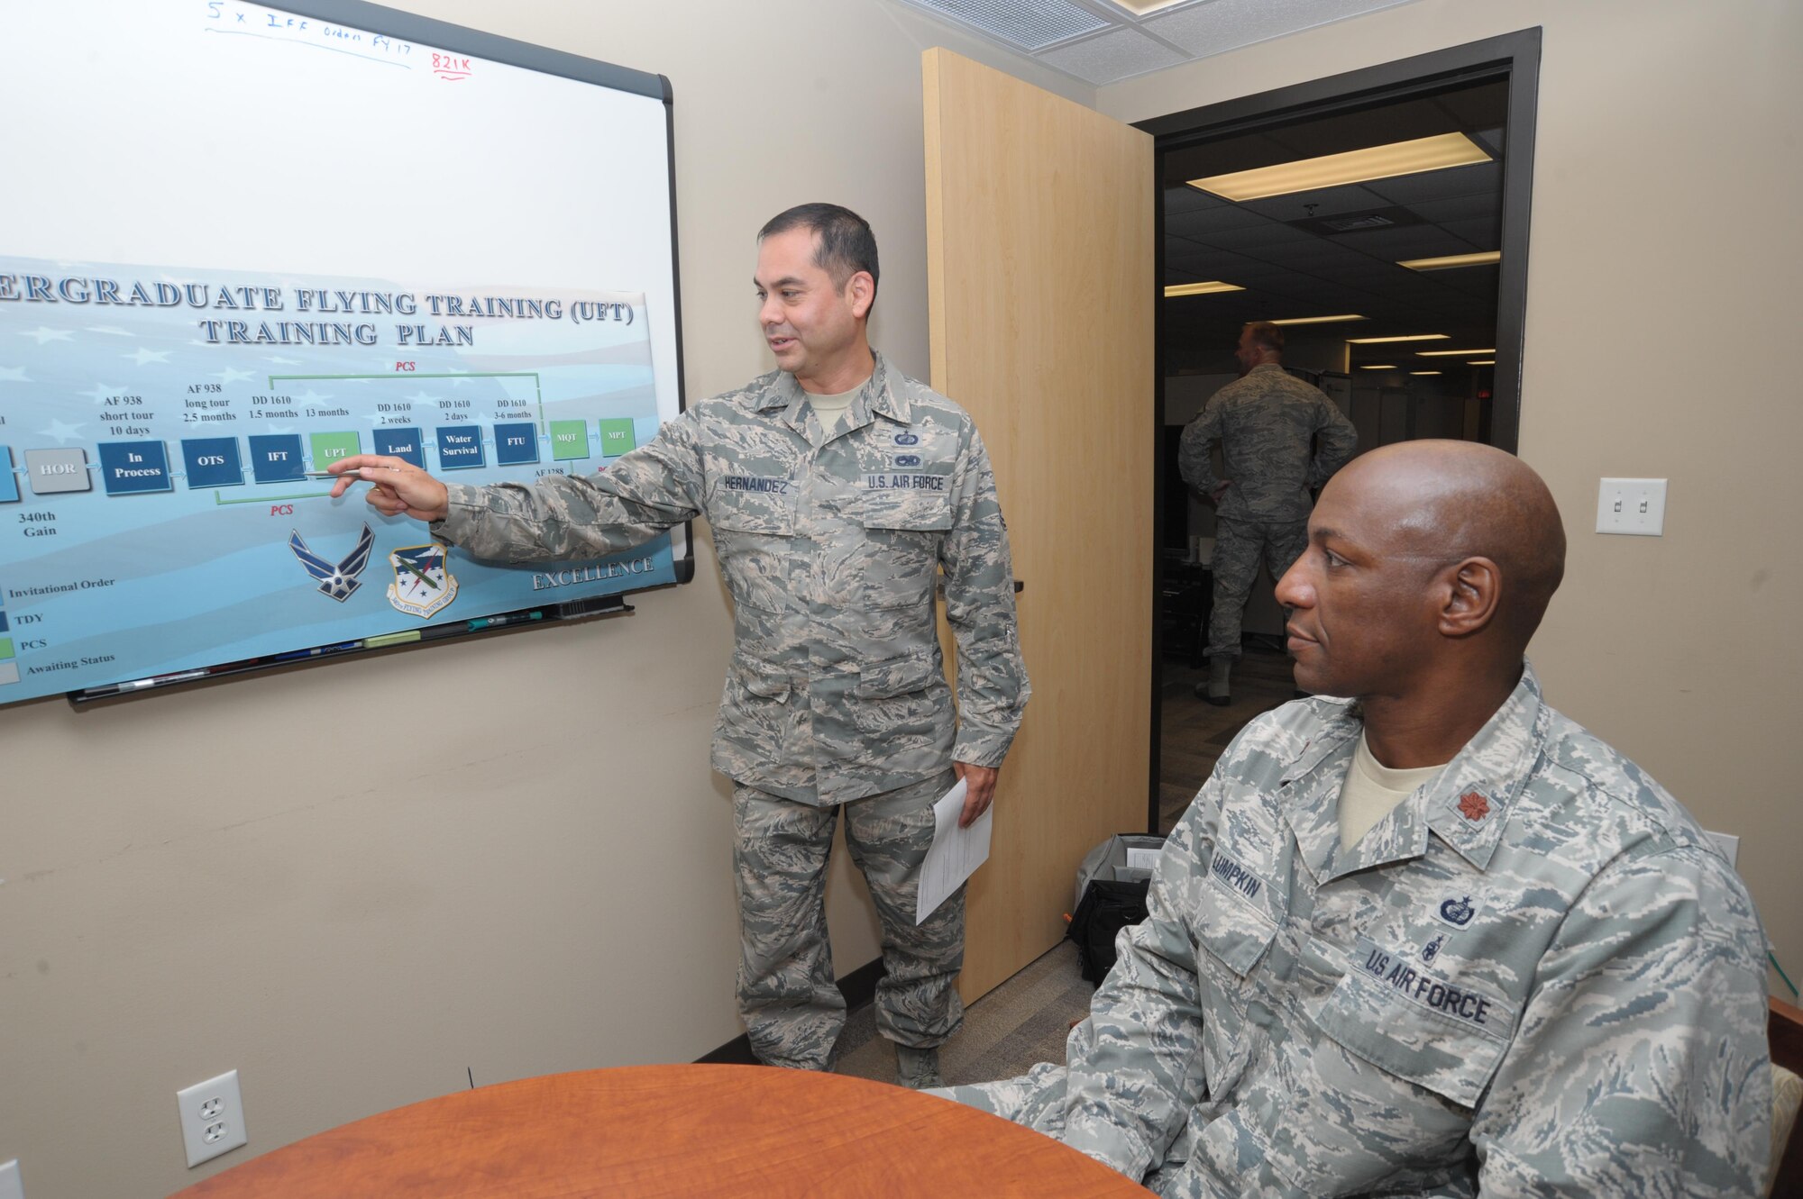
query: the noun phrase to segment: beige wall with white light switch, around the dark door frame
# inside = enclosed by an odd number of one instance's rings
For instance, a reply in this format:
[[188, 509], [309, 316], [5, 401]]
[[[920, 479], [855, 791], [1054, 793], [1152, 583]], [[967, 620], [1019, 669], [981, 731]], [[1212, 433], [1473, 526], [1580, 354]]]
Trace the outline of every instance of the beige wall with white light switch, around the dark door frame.
[[[1531, 654], [1554, 704], [1740, 834], [1796, 978], [1803, 5], [1419, 0], [1096, 104], [1141, 121], [1533, 25], [1522, 457], [1565, 513], [1570, 567]], [[1596, 535], [1603, 475], [1670, 479], [1666, 535]]]

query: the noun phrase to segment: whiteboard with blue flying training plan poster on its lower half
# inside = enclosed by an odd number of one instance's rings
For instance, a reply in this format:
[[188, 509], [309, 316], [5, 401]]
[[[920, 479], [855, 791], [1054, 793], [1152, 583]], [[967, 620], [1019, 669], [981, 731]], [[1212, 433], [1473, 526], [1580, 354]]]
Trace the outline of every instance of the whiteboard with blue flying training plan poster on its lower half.
[[9, 22], [0, 151], [58, 185], [0, 196], [0, 704], [674, 581], [317, 477], [591, 473], [680, 410], [662, 101], [236, 0]]

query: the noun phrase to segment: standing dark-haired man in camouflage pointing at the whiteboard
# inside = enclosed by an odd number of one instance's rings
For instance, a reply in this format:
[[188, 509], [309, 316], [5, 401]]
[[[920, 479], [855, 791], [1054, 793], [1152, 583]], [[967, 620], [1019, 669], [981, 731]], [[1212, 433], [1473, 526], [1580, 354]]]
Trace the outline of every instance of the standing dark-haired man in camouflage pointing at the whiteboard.
[[[691, 407], [602, 473], [472, 488], [379, 455], [334, 470], [380, 475], [379, 511], [431, 520], [433, 536], [492, 562], [611, 554], [707, 518], [734, 603], [712, 760], [734, 781], [752, 1050], [775, 1066], [833, 1062], [846, 1003], [826, 861], [842, 807], [883, 929], [878, 1028], [902, 1082], [936, 1084], [938, 1046], [963, 1014], [965, 897], [918, 927], [914, 898], [932, 801], [956, 776], [963, 823], [988, 808], [1026, 706], [1008, 529], [970, 416], [865, 340], [876, 241], [862, 218], [837, 205], [777, 216], [755, 283], [781, 369]], [[956, 711], [936, 634], [941, 569]]]

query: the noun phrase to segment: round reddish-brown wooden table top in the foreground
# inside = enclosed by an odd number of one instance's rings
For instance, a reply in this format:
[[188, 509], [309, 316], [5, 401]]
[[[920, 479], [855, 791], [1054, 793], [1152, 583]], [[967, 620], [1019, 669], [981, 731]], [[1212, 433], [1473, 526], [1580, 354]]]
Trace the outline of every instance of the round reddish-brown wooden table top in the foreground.
[[180, 1195], [1145, 1195], [1075, 1149], [902, 1087], [763, 1066], [629, 1066], [456, 1091]]

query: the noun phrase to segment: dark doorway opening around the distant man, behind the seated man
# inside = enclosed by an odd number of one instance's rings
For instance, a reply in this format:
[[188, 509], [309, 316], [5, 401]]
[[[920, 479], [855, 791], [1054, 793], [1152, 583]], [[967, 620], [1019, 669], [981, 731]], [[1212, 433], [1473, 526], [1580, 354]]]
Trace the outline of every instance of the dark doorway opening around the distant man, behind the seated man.
[[1215, 518], [1177, 473], [1183, 428], [1239, 378], [1240, 329], [1271, 320], [1282, 367], [1350, 419], [1356, 452], [1417, 437], [1515, 452], [1538, 68], [1529, 29], [1138, 122], [1165, 288], [1150, 830], [1170, 832], [1231, 738], [1295, 688], [1260, 571], [1231, 702], [1201, 695]]

